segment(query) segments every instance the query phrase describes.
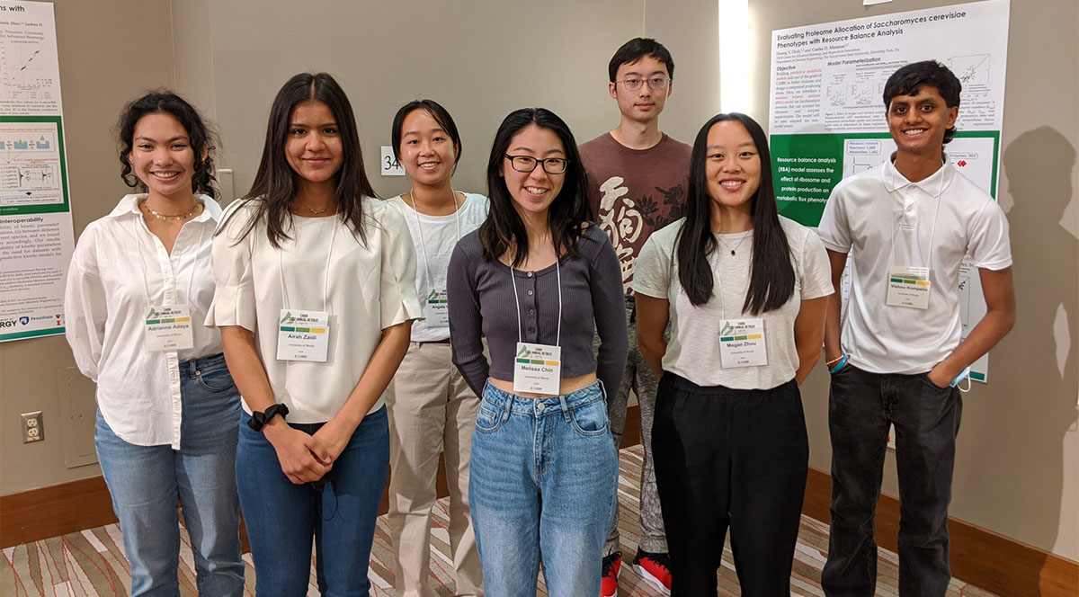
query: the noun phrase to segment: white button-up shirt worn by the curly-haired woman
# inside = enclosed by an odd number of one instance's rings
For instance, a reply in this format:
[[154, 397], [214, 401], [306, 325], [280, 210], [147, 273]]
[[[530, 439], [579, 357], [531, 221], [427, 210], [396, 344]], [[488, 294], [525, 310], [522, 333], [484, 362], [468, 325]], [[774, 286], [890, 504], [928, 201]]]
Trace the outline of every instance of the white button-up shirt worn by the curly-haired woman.
[[[79, 238], [64, 296], [66, 335], [79, 370], [97, 383], [97, 407], [112, 431], [137, 446], [180, 447], [179, 364], [221, 352], [217, 329], [197, 325], [214, 298], [210, 248], [221, 207], [199, 195], [203, 212], [165, 250], [128, 194]], [[193, 348], [149, 352], [150, 306], [187, 306]]]

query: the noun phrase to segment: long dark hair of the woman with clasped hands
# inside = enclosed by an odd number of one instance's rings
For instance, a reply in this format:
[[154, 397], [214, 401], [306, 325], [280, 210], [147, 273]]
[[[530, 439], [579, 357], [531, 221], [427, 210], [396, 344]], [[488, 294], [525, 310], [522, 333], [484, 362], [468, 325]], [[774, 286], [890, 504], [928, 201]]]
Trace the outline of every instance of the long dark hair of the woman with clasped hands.
[[[299, 176], [285, 157], [285, 144], [297, 104], [318, 100], [326, 104], [337, 121], [341, 135], [342, 164], [337, 172], [337, 188], [333, 190], [333, 204], [337, 217], [347, 222], [353, 233], [366, 242], [364, 232], [364, 195], [377, 196], [367, 173], [364, 171], [364, 157], [359, 150], [359, 133], [356, 130], [356, 118], [352, 111], [349, 97], [341, 85], [325, 72], [301, 72], [289, 79], [270, 108], [270, 121], [267, 124], [267, 139], [262, 146], [262, 161], [259, 171], [241, 201], [256, 202], [256, 216], [251, 218], [241, 236], [246, 236], [255, 225], [265, 219], [267, 236], [270, 244], [276, 248], [281, 242], [288, 239], [287, 228], [292, 221], [289, 203], [296, 196]], [[235, 212], [233, 212], [235, 213]], [[218, 230], [223, 230], [219, 227]]]

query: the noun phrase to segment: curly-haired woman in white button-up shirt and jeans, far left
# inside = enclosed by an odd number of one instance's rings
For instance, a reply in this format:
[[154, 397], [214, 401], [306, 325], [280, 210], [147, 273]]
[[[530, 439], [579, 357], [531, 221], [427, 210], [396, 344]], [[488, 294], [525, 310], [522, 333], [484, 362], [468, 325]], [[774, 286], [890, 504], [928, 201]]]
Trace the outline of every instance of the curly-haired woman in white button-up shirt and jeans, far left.
[[[235, 453], [240, 395], [214, 296], [210, 133], [172, 93], [120, 117], [128, 194], [83, 231], [64, 312], [79, 369], [97, 383], [95, 443], [131, 561], [132, 595], [179, 593], [183, 506], [200, 595], [241, 595]], [[200, 193], [200, 194], [195, 194]]]

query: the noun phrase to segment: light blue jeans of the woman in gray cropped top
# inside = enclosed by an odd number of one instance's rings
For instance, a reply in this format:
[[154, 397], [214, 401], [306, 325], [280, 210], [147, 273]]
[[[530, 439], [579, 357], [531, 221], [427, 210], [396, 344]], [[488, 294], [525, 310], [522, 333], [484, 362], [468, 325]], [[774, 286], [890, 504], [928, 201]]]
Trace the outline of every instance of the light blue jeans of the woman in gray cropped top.
[[488, 383], [468, 484], [484, 592], [534, 596], [542, 559], [550, 597], [599, 595], [617, 483], [599, 381], [540, 399]]

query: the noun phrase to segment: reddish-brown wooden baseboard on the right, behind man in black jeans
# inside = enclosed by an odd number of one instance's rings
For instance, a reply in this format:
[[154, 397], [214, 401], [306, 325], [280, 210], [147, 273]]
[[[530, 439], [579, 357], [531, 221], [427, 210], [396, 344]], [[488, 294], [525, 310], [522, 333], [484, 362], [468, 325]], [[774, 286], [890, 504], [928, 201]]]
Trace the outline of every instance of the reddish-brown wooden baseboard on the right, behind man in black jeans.
[[[828, 523], [832, 477], [809, 469], [802, 512]], [[880, 496], [876, 542], [894, 551], [899, 537], [899, 500]], [[952, 574], [997, 595], [1073, 597], [1079, 593], [1079, 562], [1009, 539], [970, 523], [948, 518]]]

